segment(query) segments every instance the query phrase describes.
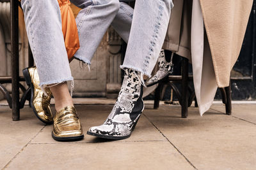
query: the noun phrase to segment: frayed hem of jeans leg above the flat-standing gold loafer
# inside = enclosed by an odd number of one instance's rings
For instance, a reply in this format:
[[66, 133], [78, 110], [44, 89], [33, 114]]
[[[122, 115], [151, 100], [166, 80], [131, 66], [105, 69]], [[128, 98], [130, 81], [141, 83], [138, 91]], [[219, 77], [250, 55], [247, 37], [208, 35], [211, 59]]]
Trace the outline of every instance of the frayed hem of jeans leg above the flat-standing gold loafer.
[[73, 90], [74, 90], [74, 78], [73, 77], [65, 78], [65, 79], [61, 79], [61, 80], [48, 81], [45, 83], [40, 83], [39, 86], [42, 89], [42, 91], [44, 92], [45, 96], [48, 96], [47, 92], [45, 91], [46, 87], [53, 87], [55, 85], [59, 85], [60, 83], [64, 83], [64, 82], [70, 82], [70, 85], [68, 85], [68, 87], [69, 87], [70, 95], [73, 96]]

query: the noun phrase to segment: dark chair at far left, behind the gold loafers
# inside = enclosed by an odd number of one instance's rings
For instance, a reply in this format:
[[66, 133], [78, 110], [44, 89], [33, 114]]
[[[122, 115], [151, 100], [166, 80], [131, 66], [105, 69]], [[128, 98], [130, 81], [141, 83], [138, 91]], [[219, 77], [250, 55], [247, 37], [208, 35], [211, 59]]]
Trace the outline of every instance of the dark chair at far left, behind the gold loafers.
[[[20, 119], [20, 109], [24, 107], [25, 101], [29, 100], [30, 89], [20, 83], [25, 81], [24, 77], [19, 76], [19, 11], [20, 1], [18, 0], [0, 0], [0, 3], [10, 2], [11, 8], [11, 62], [12, 62], [12, 76], [0, 77], [0, 90], [3, 92], [8, 105], [12, 109], [12, 119], [17, 121]], [[29, 66], [33, 66], [34, 60], [31, 50], [29, 48]], [[12, 96], [4, 88], [4, 83], [12, 83]], [[20, 98], [20, 89], [24, 93]], [[29, 100], [30, 101], [30, 100]]]

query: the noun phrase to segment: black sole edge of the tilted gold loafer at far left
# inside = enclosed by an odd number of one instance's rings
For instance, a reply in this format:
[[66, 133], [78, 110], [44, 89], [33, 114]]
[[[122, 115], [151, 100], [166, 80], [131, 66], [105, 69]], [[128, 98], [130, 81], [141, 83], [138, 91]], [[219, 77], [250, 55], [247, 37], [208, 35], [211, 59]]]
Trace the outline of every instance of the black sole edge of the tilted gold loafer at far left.
[[47, 125], [51, 125], [53, 123], [52, 122], [46, 122], [45, 120], [42, 120], [42, 118], [40, 118], [38, 115], [37, 115], [37, 112], [36, 112], [36, 108], [35, 106], [33, 106], [33, 99], [34, 99], [34, 85], [31, 81], [31, 77], [30, 77], [30, 74], [29, 74], [29, 71], [28, 71], [28, 67], [26, 69], [23, 69], [22, 70], [22, 73], [24, 75], [24, 78], [25, 78], [25, 81], [27, 83], [27, 85], [31, 88], [31, 99], [30, 99], [30, 106], [31, 108], [33, 109], [33, 112], [35, 113], [36, 117], [41, 121], [43, 122], [44, 124], [47, 124]]

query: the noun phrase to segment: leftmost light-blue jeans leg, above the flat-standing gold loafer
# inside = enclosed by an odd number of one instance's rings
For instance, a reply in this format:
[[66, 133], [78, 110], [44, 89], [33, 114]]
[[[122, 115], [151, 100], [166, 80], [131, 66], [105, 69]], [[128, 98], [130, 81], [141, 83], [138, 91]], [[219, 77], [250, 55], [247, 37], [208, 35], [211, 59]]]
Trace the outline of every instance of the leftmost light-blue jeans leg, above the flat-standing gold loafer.
[[72, 81], [58, 1], [22, 0], [21, 4], [40, 85]]

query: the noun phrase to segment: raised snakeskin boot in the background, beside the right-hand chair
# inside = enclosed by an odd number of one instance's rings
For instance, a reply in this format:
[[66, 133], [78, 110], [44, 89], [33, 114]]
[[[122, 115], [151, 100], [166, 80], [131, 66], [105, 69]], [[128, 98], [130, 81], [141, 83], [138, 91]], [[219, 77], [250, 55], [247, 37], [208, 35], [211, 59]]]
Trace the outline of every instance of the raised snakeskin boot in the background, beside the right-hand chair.
[[[172, 57], [173, 57], [173, 53], [172, 53]], [[166, 62], [164, 50], [161, 50], [161, 53], [159, 54], [159, 57], [158, 57], [159, 70], [156, 72], [154, 76], [152, 76], [152, 78], [150, 78], [146, 82], [147, 87], [150, 87], [152, 85], [159, 83], [159, 81], [163, 80], [164, 78], [166, 78], [166, 76], [173, 73], [172, 57], [170, 62]]]

